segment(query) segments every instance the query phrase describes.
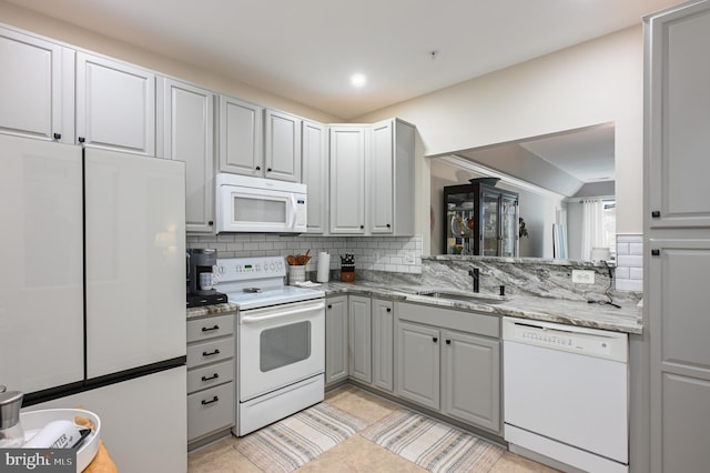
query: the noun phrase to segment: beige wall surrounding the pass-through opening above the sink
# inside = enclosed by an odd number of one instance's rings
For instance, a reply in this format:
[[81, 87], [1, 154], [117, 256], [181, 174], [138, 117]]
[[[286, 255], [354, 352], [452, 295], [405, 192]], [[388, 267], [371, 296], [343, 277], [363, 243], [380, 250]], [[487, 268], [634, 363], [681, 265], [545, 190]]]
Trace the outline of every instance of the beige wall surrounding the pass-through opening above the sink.
[[[445, 154], [605, 122], [616, 123], [617, 232], [642, 233], [642, 29], [629, 28], [359, 117], [417, 125], [424, 155]], [[419, 171], [428, 169], [422, 158]], [[417, 229], [430, 189], [417, 180]], [[425, 214], [426, 213], [426, 214]], [[427, 246], [425, 246], [427, 248]]]

